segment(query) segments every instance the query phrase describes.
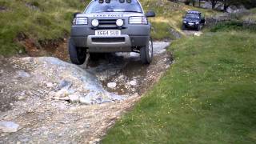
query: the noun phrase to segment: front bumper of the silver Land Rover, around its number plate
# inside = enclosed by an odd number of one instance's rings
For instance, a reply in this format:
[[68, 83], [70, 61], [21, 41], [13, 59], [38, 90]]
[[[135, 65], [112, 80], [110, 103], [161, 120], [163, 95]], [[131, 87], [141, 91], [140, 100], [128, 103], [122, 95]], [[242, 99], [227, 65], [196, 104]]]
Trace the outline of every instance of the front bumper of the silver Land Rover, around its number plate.
[[114, 37], [95, 36], [95, 30], [90, 27], [72, 26], [70, 38], [75, 46], [86, 47], [89, 52], [130, 52], [134, 47], [146, 46], [150, 25], [129, 26], [121, 29], [120, 36]]

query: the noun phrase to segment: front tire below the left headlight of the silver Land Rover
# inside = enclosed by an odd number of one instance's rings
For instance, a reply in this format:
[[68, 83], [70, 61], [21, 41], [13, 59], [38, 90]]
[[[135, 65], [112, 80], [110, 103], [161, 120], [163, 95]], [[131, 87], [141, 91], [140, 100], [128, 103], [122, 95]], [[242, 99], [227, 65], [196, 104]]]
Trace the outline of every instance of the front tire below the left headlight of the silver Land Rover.
[[74, 42], [70, 39], [69, 41], [69, 53], [70, 60], [76, 65], [82, 65], [86, 62], [86, 48], [74, 46]]

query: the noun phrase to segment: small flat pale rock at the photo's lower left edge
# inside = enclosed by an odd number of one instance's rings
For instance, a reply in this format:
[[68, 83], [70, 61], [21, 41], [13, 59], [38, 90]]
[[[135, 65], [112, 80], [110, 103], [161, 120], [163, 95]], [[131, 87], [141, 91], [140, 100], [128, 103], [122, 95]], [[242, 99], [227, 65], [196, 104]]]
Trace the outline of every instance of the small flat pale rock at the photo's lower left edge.
[[19, 125], [14, 122], [6, 122], [2, 121], [0, 122], [0, 130], [4, 133], [14, 133], [17, 132], [19, 129]]

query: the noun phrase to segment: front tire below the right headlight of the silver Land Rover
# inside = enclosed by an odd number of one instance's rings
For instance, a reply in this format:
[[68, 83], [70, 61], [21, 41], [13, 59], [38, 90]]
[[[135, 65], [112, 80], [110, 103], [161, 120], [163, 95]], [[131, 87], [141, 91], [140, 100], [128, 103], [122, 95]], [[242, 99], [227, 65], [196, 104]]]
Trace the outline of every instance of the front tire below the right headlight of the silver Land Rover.
[[140, 56], [143, 64], [150, 64], [153, 60], [153, 41], [152, 38], [149, 39], [149, 42], [146, 46], [142, 46], [140, 50]]

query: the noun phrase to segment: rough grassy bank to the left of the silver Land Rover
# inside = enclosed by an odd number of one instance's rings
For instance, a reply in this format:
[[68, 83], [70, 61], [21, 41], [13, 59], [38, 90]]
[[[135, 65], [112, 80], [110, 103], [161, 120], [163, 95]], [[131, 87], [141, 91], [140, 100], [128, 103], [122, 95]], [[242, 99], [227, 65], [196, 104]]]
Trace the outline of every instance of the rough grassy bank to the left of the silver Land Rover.
[[64, 38], [69, 34], [75, 11], [82, 10], [80, 0], [2, 0], [0, 2], [0, 54], [17, 54], [22, 50], [18, 38], [34, 43]]

